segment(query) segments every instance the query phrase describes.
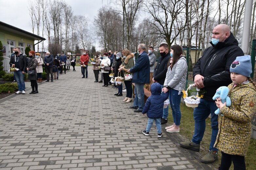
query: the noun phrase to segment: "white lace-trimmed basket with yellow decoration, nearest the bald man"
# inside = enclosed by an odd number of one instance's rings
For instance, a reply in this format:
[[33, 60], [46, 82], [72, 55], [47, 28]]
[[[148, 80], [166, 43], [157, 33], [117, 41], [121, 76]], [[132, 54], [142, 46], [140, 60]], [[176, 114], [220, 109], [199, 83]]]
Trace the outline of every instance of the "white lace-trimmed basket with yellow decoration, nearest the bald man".
[[194, 84], [189, 85], [187, 90], [183, 90], [183, 98], [187, 107], [195, 108], [200, 103], [200, 99], [204, 97], [205, 90], [200, 90], [194, 87]]

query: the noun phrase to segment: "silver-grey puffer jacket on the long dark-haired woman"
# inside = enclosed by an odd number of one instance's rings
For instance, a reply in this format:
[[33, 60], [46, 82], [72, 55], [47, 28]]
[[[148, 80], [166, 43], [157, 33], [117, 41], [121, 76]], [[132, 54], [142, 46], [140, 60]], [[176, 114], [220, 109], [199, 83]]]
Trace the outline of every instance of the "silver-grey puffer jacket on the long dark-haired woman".
[[164, 87], [175, 89], [180, 92], [185, 89], [187, 78], [187, 61], [182, 56], [173, 66], [172, 70], [168, 67]]

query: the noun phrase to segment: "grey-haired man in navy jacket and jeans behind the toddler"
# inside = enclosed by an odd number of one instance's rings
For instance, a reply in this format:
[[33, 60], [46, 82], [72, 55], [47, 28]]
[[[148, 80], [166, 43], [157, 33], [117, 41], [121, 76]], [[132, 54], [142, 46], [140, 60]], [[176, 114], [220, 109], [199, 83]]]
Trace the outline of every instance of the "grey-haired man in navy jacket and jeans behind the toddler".
[[139, 57], [135, 65], [128, 70], [128, 72], [133, 73], [132, 83], [135, 83], [135, 98], [131, 109], [136, 109], [134, 112], [142, 112], [144, 108], [144, 85], [149, 83], [149, 58], [145, 51], [146, 45], [138, 45]]

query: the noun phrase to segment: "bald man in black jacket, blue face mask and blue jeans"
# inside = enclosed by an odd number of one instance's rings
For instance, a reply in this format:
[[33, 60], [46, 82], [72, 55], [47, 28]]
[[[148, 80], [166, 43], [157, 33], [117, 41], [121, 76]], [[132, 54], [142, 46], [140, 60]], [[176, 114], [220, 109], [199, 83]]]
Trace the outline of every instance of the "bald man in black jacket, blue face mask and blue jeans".
[[198, 152], [206, 128], [206, 119], [211, 114], [211, 143], [208, 154], [201, 159], [203, 163], [211, 163], [218, 158], [218, 149], [214, 148], [218, 133], [218, 115], [214, 114], [217, 106], [212, 97], [217, 88], [232, 83], [229, 71], [230, 65], [237, 56], [244, 55], [242, 49], [238, 47], [238, 41], [226, 24], [219, 24], [213, 28], [210, 44], [212, 46], [204, 51], [202, 57], [193, 68], [195, 86], [206, 90], [204, 97], [200, 99], [198, 107], [194, 109], [194, 135], [189, 143], [180, 143], [181, 147]]

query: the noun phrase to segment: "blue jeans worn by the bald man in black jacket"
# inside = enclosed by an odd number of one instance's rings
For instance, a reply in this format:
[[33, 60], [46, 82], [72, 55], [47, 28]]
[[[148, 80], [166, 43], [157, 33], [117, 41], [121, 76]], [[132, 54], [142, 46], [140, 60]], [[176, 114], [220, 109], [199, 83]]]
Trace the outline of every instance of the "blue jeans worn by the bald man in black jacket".
[[206, 128], [206, 119], [211, 114], [211, 143], [209, 150], [218, 151], [214, 148], [213, 145], [216, 141], [218, 133], [218, 115], [214, 114], [214, 111], [217, 110], [213, 100], [204, 100], [200, 99], [198, 107], [194, 109], [194, 120], [195, 120], [195, 131], [192, 138], [192, 142], [195, 144], [200, 144], [203, 139], [205, 128]]

